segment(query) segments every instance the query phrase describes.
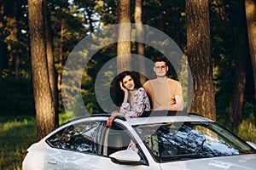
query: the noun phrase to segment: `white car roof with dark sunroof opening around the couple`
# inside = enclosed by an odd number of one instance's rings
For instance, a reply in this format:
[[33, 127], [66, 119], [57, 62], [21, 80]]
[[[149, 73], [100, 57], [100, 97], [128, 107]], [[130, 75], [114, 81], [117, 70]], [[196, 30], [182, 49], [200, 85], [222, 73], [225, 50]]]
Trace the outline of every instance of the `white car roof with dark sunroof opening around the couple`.
[[[94, 113], [90, 116], [81, 116], [73, 119], [71, 122], [78, 121], [84, 118], [101, 119], [102, 117], [109, 117], [110, 113]], [[117, 116], [116, 119], [120, 121], [127, 122], [131, 126], [151, 124], [151, 123], [162, 123], [162, 122], [212, 122], [211, 120], [186, 111], [144, 111], [142, 116], [137, 118], [125, 118], [122, 116]]]

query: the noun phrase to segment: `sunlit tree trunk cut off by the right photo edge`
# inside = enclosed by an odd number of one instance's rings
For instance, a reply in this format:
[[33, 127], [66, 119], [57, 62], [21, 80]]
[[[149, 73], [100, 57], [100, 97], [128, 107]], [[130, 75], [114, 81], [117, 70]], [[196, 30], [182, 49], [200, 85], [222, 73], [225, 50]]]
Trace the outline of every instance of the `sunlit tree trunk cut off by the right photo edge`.
[[254, 98], [256, 99], [256, 4], [254, 0], [245, 0], [247, 32], [253, 65]]

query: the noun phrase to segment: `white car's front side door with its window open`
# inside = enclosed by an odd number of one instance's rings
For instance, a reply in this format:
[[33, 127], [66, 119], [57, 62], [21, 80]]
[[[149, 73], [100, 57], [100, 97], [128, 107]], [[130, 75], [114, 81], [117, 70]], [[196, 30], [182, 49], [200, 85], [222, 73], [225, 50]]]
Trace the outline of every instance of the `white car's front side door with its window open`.
[[[102, 169], [111, 169], [111, 170], [158, 170], [160, 166], [158, 163], [149, 163], [146, 157], [143, 154], [143, 150], [138, 146], [137, 154], [141, 157], [140, 163], [136, 165], [136, 163], [116, 163], [111, 161], [109, 155], [119, 151], [119, 150], [127, 150], [129, 144], [131, 144], [131, 139], [135, 141], [134, 138], [131, 137], [131, 133], [120, 123], [114, 122], [113, 126], [110, 128], [103, 128], [104, 132], [102, 132], [102, 144], [101, 152], [99, 152], [98, 156], [90, 157], [90, 167], [93, 170], [102, 170]], [[136, 143], [136, 141], [134, 142]]]

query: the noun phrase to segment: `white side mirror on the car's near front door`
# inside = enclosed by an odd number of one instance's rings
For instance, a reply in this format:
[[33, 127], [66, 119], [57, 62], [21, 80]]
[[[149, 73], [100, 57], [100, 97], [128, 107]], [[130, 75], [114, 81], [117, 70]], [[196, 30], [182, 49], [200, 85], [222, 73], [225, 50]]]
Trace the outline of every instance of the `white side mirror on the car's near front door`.
[[110, 156], [111, 161], [118, 164], [139, 164], [141, 157], [133, 150], [120, 150]]

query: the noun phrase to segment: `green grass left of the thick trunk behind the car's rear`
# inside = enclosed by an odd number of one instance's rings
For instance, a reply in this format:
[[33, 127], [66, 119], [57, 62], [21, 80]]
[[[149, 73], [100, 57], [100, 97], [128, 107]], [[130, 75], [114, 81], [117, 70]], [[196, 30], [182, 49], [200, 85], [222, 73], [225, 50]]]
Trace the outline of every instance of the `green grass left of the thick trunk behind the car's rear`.
[[34, 116], [0, 119], [0, 169], [20, 170], [26, 149], [37, 140]]

